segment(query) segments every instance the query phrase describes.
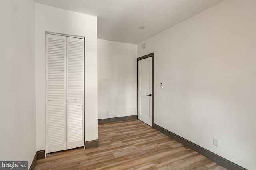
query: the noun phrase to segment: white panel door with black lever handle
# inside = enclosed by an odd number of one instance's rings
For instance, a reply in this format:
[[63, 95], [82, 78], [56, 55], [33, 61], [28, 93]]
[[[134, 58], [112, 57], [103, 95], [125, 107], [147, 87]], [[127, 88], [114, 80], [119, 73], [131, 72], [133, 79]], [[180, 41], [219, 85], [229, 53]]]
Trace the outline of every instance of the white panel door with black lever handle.
[[138, 61], [138, 119], [152, 126], [152, 57]]

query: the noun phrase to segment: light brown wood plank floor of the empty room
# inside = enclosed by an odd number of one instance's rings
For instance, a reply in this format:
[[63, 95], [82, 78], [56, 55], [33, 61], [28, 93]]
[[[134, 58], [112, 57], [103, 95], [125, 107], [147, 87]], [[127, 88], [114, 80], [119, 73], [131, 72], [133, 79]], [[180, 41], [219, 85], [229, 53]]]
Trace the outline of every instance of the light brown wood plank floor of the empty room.
[[139, 120], [98, 125], [99, 147], [52, 153], [35, 170], [226, 170]]

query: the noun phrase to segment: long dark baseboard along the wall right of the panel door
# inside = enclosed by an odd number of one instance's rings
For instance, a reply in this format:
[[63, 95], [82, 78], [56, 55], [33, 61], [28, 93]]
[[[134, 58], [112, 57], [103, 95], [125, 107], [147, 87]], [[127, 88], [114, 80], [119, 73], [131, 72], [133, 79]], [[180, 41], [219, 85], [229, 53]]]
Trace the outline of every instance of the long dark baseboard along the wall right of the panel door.
[[193, 149], [194, 151], [209, 158], [213, 162], [216, 162], [220, 166], [227, 168], [228, 170], [246, 170], [245, 168], [243, 168], [233, 162], [230, 162], [229, 160], [222, 158], [221, 156], [218, 156], [217, 154], [215, 154], [207, 149], [204, 149], [203, 147], [200, 147], [199, 145], [196, 145], [195, 143], [192, 143], [183, 137], [180, 137], [179, 135], [176, 135], [175, 133], [172, 133], [172, 132], [168, 131], [167, 129], [164, 129], [163, 127], [160, 127], [160, 126], [154, 124], [154, 128], [156, 130], [164, 133], [165, 135], [171, 137], [172, 139], [182, 143], [183, 145], [189, 147], [190, 149]]

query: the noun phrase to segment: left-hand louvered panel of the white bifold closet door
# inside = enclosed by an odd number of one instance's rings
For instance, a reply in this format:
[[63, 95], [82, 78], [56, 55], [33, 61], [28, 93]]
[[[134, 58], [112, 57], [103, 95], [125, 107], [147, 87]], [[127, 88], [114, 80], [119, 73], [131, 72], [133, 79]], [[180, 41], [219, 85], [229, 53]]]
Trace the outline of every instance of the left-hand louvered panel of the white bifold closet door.
[[66, 149], [66, 37], [46, 34], [46, 153]]

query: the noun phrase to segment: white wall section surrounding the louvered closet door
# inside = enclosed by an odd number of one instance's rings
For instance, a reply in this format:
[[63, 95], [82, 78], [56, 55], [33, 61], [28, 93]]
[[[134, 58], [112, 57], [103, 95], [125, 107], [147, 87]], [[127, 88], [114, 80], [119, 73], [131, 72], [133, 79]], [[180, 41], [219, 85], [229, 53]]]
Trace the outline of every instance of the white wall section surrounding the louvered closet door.
[[38, 3], [35, 14], [37, 150], [45, 149], [46, 139], [46, 31], [85, 37], [85, 141], [98, 139], [97, 18]]

